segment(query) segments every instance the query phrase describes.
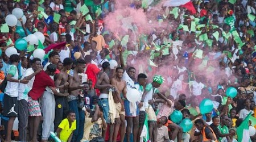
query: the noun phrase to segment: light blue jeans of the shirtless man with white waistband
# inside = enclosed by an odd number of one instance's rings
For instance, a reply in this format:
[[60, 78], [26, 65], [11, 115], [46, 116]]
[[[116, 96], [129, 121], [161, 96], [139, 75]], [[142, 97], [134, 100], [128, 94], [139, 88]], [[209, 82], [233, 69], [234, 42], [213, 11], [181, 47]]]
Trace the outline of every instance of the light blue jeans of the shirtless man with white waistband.
[[103, 117], [106, 120], [106, 123], [110, 123], [108, 98], [99, 99], [98, 106], [100, 106], [101, 111], [103, 111]]

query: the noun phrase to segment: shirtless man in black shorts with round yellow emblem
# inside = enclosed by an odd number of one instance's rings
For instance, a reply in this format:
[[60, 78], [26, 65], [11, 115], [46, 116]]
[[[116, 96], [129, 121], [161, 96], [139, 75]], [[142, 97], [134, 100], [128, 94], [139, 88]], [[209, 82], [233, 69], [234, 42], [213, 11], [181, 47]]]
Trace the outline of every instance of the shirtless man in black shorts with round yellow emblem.
[[[63, 61], [63, 68], [60, 70], [59, 75], [55, 81], [55, 86], [60, 89], [60, 93], [68, 92], [68, 71], [71, 70], [73, 61], [70, 58], [66, 58]], [[55, 119], [54, 119], [54, 130], [56, 131], [61, 120], [67, 116], [69, 111], [68, 101], [66, 97], [60, 97], [55, 95]]]

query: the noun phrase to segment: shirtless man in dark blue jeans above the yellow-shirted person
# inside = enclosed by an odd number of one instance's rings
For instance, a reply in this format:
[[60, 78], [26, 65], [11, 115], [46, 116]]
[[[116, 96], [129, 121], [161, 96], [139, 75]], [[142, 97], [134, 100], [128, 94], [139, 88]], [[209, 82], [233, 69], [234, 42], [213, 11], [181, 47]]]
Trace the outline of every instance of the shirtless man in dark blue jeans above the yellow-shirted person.
[[72, 141], [80, 141], [84, 133], [84, 123], [80, 123], [80, 119], [84, 119], [85, 114], [80, 108], [77, 107], [79, 90], [83, 89], [84, 87], [78, 74], [84, 73], [84, 69], [85, 61], [82, 59], [78, 59], [76, 61], [75, 69], [73, 69], [73, 72], [70, 73], [68, 77], [68, 104], [70, 110], [75, 111], [76, 113], [76, 130], [73, 132]]

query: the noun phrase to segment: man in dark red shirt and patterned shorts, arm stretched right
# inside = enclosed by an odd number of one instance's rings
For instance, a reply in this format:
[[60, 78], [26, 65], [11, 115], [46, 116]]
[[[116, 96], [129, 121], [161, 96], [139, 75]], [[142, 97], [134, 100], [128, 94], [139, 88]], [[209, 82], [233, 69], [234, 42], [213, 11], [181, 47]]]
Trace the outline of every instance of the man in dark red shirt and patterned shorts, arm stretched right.
[[30, 116], [30, 128], [32, 128], [32, 130], [30, 130], [30, 141], [37, 141], [36, 134], [38, 132], [40, 116], [42, 116], [38, 99], [42, 97], [46, 87], [49, 87], [54, 94], [61, 96], [68, 95], [68, 93], [60, 93], [59, 89], [56, 89], [55, 83], [50, 77], [56, 73], [56, 70], [56, 65], [50, 64], [47, 66], [46, 71], [36, 74], [32, 89], [28, 92], [28, 115]]

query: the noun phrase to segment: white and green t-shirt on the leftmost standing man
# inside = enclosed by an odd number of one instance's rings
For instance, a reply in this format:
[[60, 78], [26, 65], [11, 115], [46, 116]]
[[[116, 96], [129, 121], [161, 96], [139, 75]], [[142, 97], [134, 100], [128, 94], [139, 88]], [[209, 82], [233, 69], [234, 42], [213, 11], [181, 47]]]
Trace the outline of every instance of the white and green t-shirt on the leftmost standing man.
[[[10, 65], [8, 74], [11, 74], [11, 76], [12, 76], [11, 78], [18, 80], [19, 73], [18, 73], [17, 66]], [[18, 97], [18, 91], [17, 91], [18, 89], [19, 89], [18, 82], [7, 81], [7, 85], [5, 88], [5, 94], [9, 95], [10, 97]]]

